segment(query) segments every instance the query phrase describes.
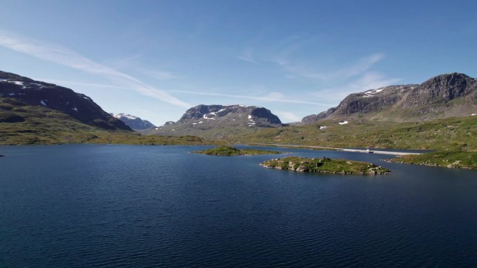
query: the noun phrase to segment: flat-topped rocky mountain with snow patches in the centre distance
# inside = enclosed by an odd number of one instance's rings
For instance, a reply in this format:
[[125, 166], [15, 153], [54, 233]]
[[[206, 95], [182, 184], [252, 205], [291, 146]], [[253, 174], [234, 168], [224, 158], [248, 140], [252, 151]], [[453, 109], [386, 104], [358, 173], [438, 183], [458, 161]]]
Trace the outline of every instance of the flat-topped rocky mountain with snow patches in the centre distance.
[[222, 139], [256, 132], [264, 127], [280, 127], [278, 116], [263, 107], [245, 105], [198, 105], [185, 111], [177, 122], [149, 129], [147, 134], [202, 136]]

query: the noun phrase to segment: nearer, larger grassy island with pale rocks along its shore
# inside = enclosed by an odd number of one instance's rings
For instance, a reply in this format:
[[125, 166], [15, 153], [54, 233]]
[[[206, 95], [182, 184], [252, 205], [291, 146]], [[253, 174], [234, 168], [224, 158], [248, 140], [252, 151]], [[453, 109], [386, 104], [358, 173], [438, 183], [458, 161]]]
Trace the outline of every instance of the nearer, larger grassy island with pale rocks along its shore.
[[310, 173], [341, 173], [351, 175], [378, 175], [391, 173], [387, 168], [376, 166], [368, 162], [351, 161], [347, 159], [330, 159], [327, 157], [284, 157], [264, 161], [260, 165], [266, 168]]

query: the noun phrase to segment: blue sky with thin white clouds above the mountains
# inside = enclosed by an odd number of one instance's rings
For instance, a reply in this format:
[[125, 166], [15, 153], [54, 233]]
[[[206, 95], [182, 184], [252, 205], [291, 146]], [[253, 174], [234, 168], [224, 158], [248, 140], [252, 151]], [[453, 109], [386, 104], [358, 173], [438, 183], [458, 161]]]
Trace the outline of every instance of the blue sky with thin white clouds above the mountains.
[[477, 1], [5, 1], [0, 70], [162, 125], [198, 104], [283, 122], [349, 93], [477, 77]]

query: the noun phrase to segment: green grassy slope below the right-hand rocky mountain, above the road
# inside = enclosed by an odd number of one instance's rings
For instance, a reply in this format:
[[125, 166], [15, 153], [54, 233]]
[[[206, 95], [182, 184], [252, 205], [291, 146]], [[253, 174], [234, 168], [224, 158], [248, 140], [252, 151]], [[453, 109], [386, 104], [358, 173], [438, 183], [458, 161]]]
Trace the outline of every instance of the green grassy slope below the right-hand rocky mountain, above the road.
[[[321, 129], [320, 129], [321, 127]], [[420, 123], [368, 120], [326, 120], [303, 126], [260, 129], [255, 134], [234, 136], [243, 143], [279, 143], [331, 147], [373, 147], [427, 150], [477, 150], [477, 116], [447, 118]]]

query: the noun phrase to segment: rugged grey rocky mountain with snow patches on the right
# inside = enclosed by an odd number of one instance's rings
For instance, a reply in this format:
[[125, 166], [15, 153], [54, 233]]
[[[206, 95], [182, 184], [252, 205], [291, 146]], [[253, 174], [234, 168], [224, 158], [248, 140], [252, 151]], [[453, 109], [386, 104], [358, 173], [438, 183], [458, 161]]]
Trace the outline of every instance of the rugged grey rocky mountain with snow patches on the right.
[[418, 122], [477, 113], [477, 79], [454, 72], [423, 82], [354, 93], [338, 107], [305, 116], [301, 123], [324, 119]]

